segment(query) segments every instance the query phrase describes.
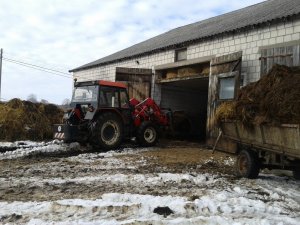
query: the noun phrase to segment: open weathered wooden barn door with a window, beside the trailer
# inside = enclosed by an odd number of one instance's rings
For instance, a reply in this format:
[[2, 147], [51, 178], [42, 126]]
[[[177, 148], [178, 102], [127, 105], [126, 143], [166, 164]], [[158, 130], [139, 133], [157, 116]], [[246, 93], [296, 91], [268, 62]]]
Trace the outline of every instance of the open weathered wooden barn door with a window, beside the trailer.
[[[242, 52], [213, 58], [210, 63], [208, 105], [207, 105], [207, 143], [213, 146], [218, 135], [219, 128], [215, 121], [216, 108], [224, 101], [232, 101], [237, 97], [240, 88]], [[220, 140], [221, 148], [230, 148], [235, 151], [235, 146], [226, 140]]]

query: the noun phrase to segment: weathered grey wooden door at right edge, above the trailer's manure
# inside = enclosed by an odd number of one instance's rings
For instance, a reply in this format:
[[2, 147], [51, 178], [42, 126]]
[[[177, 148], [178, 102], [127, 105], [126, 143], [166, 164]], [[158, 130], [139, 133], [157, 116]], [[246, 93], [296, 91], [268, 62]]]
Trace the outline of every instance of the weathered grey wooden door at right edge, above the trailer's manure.
[[266, 75], [274, 64], [300, 66], [300, 45], [278, 46], [261, 50], [261, 75]]

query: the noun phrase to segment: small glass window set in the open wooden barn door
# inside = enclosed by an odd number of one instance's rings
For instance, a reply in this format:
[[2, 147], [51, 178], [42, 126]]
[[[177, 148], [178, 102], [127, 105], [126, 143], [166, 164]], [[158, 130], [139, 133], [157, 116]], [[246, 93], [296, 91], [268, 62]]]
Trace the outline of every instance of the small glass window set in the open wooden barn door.
[[234, 77], [219, 78], [219, 99], [230, 100], [234, 99]]

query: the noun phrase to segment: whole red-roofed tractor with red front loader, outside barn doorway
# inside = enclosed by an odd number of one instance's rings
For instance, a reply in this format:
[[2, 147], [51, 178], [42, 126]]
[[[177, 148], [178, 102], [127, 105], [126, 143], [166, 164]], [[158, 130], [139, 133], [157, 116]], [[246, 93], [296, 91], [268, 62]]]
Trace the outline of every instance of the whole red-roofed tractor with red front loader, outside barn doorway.
[[153, 99], [129, 101], [126, 86], [119, 82], [74, 83], [72, 110], [63, 124], [54, 125], [54, 138], [90, 143], [103, 150], [117, 148], [123, 139], [136, 138], [141, 146], [153, 146], [169, 119]]

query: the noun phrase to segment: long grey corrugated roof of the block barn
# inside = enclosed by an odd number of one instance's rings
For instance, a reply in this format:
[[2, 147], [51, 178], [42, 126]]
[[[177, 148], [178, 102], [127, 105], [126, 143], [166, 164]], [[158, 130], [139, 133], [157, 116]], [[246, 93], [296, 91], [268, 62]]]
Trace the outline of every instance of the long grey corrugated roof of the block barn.
[[269, 0], [230, 13], [212, 17], [186, 26], [172, 29], [112, 55], [71, 70], [75, 72], [95, 66], [113, 63], [132, 57], [166, 49], [174, 49], [187, 43], [219, 34], [247, 29], [252, 26], [300, 14], [299, 0]]

